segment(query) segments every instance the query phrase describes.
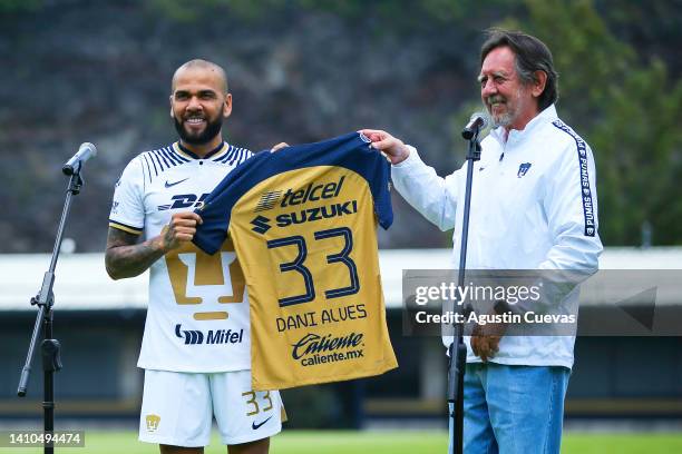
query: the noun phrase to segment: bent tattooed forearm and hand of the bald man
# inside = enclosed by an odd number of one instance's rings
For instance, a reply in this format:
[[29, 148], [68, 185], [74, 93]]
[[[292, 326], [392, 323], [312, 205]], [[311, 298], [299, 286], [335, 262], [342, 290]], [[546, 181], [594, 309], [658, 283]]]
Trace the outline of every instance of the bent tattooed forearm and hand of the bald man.
[[192, 211], [177, 213], [160, 235], [137, 244], [138, 236], [109, 227], [105, 264], [113, 279], [135, 277], [183, 243], [192, 241], [202, 218]]

